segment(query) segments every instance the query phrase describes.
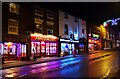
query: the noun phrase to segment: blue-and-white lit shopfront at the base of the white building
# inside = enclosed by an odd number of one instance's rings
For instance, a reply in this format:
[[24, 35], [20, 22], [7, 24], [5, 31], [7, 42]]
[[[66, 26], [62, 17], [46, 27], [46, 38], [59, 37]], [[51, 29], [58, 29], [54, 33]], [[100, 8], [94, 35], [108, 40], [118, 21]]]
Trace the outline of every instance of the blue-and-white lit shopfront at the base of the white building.
[[73, 53], [78, 53], [78, 44], [79, 41], [72, 41], [69, 39], [60, 39], [60, 55], [67, 56], [72, 55]]

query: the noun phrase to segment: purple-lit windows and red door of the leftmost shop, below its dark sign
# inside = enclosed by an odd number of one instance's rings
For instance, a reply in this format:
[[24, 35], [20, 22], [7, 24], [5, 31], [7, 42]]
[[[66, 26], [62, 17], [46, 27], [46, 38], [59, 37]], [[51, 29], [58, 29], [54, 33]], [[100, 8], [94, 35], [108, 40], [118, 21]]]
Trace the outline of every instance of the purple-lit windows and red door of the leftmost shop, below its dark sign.
[[26, 57], [26, 44], [5, 42], [2, 45], [5, 60], [14, 60], [21, 56]]

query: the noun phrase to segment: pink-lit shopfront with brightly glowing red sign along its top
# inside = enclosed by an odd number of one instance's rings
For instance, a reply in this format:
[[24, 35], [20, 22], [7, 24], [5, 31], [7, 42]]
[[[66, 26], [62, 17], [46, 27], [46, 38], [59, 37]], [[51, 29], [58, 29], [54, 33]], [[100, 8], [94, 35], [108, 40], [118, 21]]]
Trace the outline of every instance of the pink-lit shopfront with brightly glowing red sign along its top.
[[58, 55], [58, 38], [52, 35], [31, 34], [31, 56]]

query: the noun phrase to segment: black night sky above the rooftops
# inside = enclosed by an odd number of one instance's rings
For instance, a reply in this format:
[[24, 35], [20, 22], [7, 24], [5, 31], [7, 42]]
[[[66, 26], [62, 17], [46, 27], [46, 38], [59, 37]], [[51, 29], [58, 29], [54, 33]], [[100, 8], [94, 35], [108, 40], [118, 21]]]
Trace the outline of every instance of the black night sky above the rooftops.
[[38, 4], [61, 9], [96, 25], [120, 17], [120, 2], [39, 2]]

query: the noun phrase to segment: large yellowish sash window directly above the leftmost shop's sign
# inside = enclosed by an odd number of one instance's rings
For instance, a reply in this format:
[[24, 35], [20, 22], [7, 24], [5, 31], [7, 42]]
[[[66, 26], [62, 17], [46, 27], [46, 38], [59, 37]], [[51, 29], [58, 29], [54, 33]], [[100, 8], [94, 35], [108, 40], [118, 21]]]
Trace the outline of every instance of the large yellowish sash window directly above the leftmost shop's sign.
[[9, 19], [8, 20], [8, 34], [18, 34], [18, 21]]

